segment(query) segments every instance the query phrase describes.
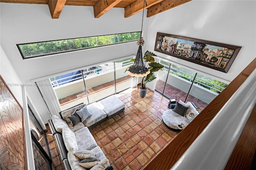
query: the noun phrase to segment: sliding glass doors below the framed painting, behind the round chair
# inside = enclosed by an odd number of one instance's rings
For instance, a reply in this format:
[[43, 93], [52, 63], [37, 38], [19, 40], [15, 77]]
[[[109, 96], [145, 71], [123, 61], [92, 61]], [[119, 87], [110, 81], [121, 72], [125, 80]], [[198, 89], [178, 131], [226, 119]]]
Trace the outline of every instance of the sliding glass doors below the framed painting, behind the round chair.
[[228, 85], [168, 61], [160, 63], [164, 69], [158, 73], [156, 91], [169, 99], [193, 102], [201, 111]]

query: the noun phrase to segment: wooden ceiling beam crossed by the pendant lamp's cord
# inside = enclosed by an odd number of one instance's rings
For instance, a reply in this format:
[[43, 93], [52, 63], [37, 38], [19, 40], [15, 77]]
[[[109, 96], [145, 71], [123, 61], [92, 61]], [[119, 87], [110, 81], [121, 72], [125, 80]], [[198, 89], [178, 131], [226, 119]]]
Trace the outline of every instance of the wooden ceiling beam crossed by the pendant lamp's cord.
[[[144, 9], [154, 6], [164, 0], [145, 0]], [[143, 0], [137, 0], [124, 8], [124, 18], [128, 18], [143, 10]]]

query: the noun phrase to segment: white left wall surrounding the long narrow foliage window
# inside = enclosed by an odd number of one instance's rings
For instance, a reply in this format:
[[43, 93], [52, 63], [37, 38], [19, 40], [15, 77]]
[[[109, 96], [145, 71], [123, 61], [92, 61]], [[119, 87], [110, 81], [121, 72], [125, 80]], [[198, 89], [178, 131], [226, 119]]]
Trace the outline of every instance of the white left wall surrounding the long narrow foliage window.
[[137, 32], [141, 30], [142, 12], [124, 18], [123, 8], [112, 8], [102, 17], [94, 18], [92, 6], [64, 6], [60, 17], [52, 19], [48, 5], [44, 4], [1, 3], [0, 8], [2, 46], [23, 82], [138, 50], [136, 42], [132, 42], [23, 60], [16, 44]]

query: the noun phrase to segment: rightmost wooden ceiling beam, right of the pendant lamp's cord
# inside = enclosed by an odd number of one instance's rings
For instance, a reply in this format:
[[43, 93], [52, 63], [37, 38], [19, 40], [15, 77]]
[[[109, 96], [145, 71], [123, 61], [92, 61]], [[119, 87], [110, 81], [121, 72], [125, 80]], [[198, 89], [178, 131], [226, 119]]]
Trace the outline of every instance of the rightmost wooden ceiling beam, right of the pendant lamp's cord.
[[148, 8], [147, 17], [154, 16], [176, 6], [189, 2], [190, 0], [165, 0], [155, 6]]

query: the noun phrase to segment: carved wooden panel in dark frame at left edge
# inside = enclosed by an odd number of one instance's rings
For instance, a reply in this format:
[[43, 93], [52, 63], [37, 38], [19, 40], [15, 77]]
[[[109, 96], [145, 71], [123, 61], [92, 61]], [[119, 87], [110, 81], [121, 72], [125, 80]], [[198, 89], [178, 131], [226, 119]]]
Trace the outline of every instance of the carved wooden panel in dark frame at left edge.
[[26, 170], [23, 108], [0, 75], [0, 169]]

